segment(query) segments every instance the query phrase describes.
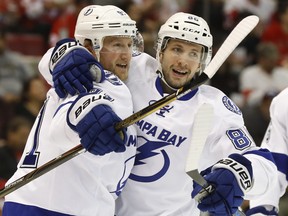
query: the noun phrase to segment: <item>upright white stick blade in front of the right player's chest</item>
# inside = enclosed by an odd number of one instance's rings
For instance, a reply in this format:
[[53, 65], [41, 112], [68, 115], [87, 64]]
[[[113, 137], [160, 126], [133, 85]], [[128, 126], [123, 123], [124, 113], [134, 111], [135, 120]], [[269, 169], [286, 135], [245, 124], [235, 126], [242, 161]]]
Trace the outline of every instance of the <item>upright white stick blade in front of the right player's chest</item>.
[[[198, 171], [200, 156], [213, 125], [213, 114], [213, 107], [210, 104], [204, 103], [198, 109], [193, 122], [191, 146], [186, 159], [186, 173], [203, 188], [195, 197], [198, 202], [215, 190], [214, 186], [210, 185]], [[244, 213], [238, 210], [233, 216], [236, 215], [243, 216]]]

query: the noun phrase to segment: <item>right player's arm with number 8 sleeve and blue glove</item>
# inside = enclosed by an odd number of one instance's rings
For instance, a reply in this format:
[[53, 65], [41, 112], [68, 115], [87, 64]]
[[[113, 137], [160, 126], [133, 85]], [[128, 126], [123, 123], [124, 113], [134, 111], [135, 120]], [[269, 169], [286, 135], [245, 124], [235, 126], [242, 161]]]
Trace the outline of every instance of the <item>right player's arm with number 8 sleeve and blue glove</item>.
[[[216, 123], [205, 144], [208, 152], [213, 149], [215, 159], [205, 158], [203, 163], [206, 165], [201, 166], [208, 167], [215, 163], [213, 161], [223, 159], [202, 173], [206, 181], [214, 185], [215, 191], [204, 197], [198, 208], [215, 215], [232, 215], [244, 198], [265, 193], [274, 181], [277, 169], [271, 152], [256, 147], [244, 126], [239, 108], [222, 94], [219, 99], [220, 103], [215, 105]], [[205, 151], [203, 156], [206, 156]], [[205, 162], [207, 160], [209, 163]], [[195, 198], [201, 190], [202, 187], [195, 183], [192, 197]]]

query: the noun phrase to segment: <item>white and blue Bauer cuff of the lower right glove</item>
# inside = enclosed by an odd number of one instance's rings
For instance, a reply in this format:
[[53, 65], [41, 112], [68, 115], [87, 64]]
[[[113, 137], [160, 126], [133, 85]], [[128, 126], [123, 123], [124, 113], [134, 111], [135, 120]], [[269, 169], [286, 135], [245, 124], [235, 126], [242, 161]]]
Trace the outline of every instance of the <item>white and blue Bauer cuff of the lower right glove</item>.
[[252, 166], [244, 156], [232, 154], [228, 158], [223, 158], [212, 167], [212, 171], [220, 168], [228, 169], [234, 174], [244, 194], [252, 188]]

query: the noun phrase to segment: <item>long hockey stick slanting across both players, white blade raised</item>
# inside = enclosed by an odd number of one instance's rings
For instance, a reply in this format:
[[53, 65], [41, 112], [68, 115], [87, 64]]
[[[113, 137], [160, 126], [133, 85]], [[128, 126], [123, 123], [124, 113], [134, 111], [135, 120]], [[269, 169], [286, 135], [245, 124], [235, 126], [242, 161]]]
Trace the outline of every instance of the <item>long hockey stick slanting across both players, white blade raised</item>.
[[[227, 57], [233, 52], [233, 50], [239, 45], [239, 43], [252, 31], [252, 29], [257, 25], [259, 18], [257, 16], [248, 16], [244, 18], [229, 34], [227, 39], [224, 41], [222, 46], [219, 48], [218, 52], [207, 66], [205, 71], [191, 83], [180, 88], [177, 92], [163, 97], [154, 104], [147, 106], [146, 108], [134, 113], [130, 117], [124, 119], [115, 125], [116, 130], [121, 130], [122, 128], [128, 127], [135, 122], [145, 118], [151, 113], [161, 109], [167, 104], [177, 100], [178, 98], [188, 94], [192, 90], [196, 89], [201, 84], [205, 83], [211, 79], [219, 67], [224, 63]], [[72, 148], [71, 150], [61, 154], [60, 156], [52, 159], [51, 161], [43, 164], [39, 168], [33, 170], [32, 172], [24, 175], [23, 177], [15, 180], [6, 187], [0, 190], [0, 198], [6, 196], [7, 194], [15, 191], [16, 189], [26, 185], [30, 181], [38, 178], [39, 176], [49, 172], [55, 167], [65, 163], [66, 161], [74, 158], [80, 153], [84, 152], [82, 145], [79, 144]]]

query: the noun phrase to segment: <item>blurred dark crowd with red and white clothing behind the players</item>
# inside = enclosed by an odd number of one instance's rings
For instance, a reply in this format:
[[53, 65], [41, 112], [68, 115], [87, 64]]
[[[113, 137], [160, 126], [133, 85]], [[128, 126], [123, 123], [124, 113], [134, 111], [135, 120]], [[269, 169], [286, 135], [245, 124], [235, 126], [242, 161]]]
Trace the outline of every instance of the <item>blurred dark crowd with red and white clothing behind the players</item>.
[[[152, 56], [160, 25], [175, 12], [208, 22], [214, 54], [241, 19], [257, 15], [257, 27], [208, 84], [237, 103], [260, 145], [271, 100], [288, 86], [288, 0], [0, 0], [0, 188], [16, 170], [49, 89], [38, 62], [59, 39], [73, 37], [79, 11], [90, 4], [125, 10], [137, 22], [144, 51]], [[288, 215], [287, 201], [285, 195], [280, 216]]]

